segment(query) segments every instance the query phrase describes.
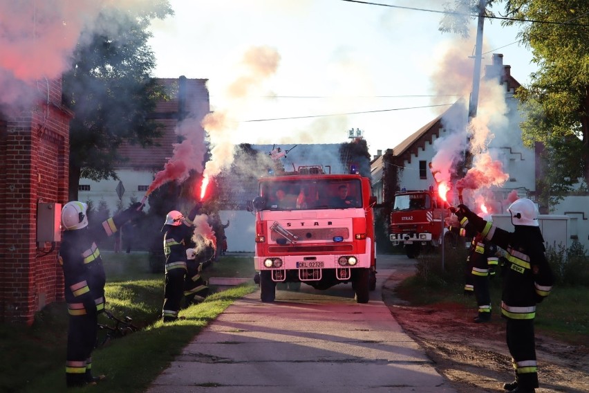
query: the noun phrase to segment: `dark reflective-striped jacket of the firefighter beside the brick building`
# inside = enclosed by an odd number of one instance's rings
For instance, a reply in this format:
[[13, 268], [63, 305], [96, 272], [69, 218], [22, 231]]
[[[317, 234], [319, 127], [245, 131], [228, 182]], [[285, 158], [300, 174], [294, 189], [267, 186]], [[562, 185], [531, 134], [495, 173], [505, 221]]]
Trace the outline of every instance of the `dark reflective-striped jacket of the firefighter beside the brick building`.
[[104, 311], [106, 274], [97, 243], [133, 218], [133, 209], [136, 207], [95, 226], [64, 231], [58, 258], [64, 270], [65, 298], [71, 316]]

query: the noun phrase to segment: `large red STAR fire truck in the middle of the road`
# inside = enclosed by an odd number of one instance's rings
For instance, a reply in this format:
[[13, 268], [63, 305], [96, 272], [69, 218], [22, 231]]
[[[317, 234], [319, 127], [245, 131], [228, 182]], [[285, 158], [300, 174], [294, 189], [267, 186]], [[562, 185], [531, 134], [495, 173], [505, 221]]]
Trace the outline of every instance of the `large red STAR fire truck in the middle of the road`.
[[368, 302], [376, 286], [374, 203], [368, 178], [321, 165], [259, 179], [251, 208], [261, 301], [274, 302], [277, 283], [297, 291], [301, 282], [319, 290], [350, 282], [355, 300]]

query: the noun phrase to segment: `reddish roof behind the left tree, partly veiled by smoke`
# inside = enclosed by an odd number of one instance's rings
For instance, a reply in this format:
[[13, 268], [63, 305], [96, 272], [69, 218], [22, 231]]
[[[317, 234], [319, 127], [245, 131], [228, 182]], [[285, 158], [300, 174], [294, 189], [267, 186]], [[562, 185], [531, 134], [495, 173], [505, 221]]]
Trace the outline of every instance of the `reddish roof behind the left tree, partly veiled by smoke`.
[[[120, 163], [120, 168], [161, 170], [174, 153], [174, 143], [180, 142], [176, 134], [178, 122], [193, 116], [201, 119], [209, 113], [207, 80], [179, 77], [158, 78], [158, 82], [165, 86], [171, 96], [171, 100], [158, 102], [152, 116], [164, 126], [163, 134], [160, 138], [155, 138], [150, 147], [123, 143], [118, 152], [127, 161]], [[197, 132], [199, 131], [203, 133], [204, 144], [204, 130], [200, 127]]]

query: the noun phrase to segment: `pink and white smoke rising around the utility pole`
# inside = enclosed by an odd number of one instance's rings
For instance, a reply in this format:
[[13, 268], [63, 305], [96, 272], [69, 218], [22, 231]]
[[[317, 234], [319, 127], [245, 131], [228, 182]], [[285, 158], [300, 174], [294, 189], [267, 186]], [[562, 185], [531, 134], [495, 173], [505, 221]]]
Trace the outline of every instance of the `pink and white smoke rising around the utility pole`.
[[[472, 36], [472, 34], [471, 34]], [[433, 75], [434, 89], [438, 95], [459, 91], [469, 97], [472, 86], [473, 60], [463, 48], [469, 48], [464, 40], [453, 42], [442, 56], [438, 71]], [[449, 110], [442, 117], [446, 129], [445, 136], [438, 138], [433, 147], [436, 155], [432, 158], [432, 169], [440, 172], [438, 180], [451, 182], [456, 175], [456, 164], [465, 157], [465, 152], [472, 156], [472, 167], [463, 179], [456, 182], [456, 188], [470, 190], [467, 193], [473, 200], [483, 198], [485, 205], [494, 206], [496, 201], [492, 192], [485, 192], [493, 186], [501, 187], [509, 175], [503, 172], [499, 152], [489, 149], [495, 131], [501, 131], [508, 125], [507, 104], [503, 86], [496, 79], [480, 80], [480, 92], [476, 117], [467, 123], [467, 100], [458, 101], [454, 110]]]

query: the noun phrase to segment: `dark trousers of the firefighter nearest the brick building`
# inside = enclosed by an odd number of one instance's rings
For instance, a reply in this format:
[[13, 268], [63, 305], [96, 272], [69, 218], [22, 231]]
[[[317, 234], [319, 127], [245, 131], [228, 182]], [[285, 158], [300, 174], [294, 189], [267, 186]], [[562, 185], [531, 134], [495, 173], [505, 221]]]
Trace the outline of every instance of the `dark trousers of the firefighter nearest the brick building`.
[[98, 333], [97, 313], [69, 316], [66, 384], [83, 385], [91, 376], [91, 354]]

